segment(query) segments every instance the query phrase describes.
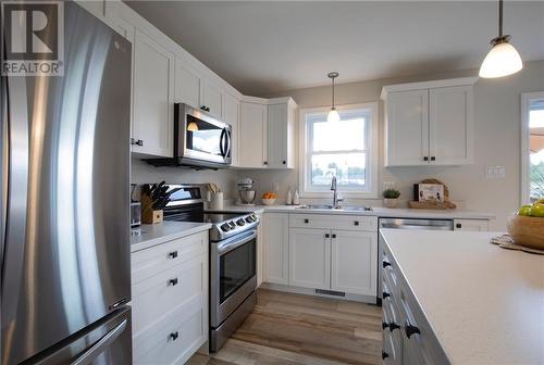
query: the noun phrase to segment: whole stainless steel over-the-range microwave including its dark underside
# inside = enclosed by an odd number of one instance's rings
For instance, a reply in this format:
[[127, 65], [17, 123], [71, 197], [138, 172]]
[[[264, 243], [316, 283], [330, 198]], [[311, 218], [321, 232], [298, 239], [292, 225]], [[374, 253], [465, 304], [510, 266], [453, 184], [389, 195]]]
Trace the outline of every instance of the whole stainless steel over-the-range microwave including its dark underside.
[[173, 159], [147, 162], [156, 166], [228, 167], [232, 161], [232, 126], [206, 111], [175, 103], [173, 154]]

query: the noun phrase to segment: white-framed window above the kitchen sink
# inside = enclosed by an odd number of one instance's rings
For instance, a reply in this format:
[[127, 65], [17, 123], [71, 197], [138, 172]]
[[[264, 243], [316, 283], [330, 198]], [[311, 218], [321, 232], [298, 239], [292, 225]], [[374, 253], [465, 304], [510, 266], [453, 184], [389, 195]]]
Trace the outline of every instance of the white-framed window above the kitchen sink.
[[337, 108], [339, 122], [326, 121], [327, 108], [301, 111], [301, 194], [331, 193], [336, 176], [344, 196], [376, 198], [376, 103]]

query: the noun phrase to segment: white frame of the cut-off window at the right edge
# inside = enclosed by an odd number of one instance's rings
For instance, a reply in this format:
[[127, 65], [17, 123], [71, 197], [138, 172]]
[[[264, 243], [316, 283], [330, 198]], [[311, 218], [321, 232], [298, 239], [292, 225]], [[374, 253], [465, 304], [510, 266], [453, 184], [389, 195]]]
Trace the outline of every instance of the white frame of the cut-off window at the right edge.
[[529, 131], [529, 105], [531, 101], [544, 99], [544, 91], [521, 93], [521, 196], [520, 205], [531, 202], [531, 179], [529, 172], [531, 168], [530, 152], [530, 131]]

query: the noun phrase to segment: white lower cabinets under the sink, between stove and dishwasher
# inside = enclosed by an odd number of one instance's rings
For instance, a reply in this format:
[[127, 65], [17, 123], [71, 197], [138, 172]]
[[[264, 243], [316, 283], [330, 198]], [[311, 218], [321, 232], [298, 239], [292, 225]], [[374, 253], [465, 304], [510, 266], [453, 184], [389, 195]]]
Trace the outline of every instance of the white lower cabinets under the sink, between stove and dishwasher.
[[375, 216], [265, 213], [262, 226], [264, 282], [375, 298]]

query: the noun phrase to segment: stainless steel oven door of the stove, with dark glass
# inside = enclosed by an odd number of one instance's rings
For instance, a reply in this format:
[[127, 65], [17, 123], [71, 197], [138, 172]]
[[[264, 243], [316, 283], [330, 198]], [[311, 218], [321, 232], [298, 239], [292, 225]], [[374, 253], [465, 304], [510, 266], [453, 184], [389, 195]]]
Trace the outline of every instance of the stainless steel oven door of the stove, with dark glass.
[[256, 264], [257, 230], [211, 243], [211, 327], [219, 327], [255, 291]]

